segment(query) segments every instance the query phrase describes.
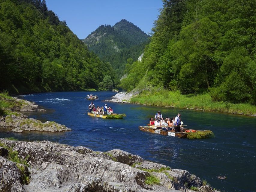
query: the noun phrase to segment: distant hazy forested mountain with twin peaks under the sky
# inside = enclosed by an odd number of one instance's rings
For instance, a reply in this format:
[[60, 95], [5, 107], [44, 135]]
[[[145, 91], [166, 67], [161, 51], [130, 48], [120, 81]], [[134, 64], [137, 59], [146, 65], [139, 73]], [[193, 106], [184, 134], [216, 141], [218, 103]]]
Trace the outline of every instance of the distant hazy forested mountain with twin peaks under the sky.
[[136, 61], [149, 42], [140, 28], [125, 19], [114, 26], [101, 25], [82, 41], [90, 51], [95, 52], [103, 61], [110, 62], [117, 74], [122, 76], [128, 58]]

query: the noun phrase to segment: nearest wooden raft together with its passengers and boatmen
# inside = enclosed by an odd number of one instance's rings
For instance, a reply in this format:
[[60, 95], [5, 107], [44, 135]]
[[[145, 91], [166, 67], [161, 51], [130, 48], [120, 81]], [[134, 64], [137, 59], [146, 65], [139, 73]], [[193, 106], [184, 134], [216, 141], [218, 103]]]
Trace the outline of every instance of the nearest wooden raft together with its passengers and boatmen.
[[163, 118], [160, 111], [155, 114], [155, 120], [150, 118], [147, 126], [139, 126], [139, 130], [161, 134], [166, 136], [188, 138], [188, 139], [205, 139], [214, 137], [214, 134], [210, 130], [194, 130], [184, 128], [187, 125], [183, 125], [179, 113], [175, 118]]

